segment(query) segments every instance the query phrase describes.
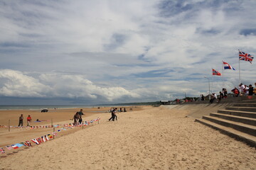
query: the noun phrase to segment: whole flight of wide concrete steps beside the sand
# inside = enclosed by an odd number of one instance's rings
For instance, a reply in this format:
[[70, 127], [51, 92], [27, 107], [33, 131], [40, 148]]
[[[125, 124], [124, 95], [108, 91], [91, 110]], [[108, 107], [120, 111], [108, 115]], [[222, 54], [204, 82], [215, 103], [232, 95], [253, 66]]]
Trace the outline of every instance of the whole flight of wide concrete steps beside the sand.
[[256, 100], [245, 100], [218, 113], [204, 115], [196, 122], [256, 147]]

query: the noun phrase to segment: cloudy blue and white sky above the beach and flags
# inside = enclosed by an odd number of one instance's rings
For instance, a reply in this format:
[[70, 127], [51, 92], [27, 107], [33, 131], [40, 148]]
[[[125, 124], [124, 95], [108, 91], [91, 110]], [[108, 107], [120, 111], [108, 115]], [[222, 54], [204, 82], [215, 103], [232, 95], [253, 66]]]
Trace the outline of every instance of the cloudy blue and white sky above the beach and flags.
[[256, 55], [255, 8], [254, 0], [1, 0], [0, 105], [149, 102], [207, 95], [209, 84], [211, 93], [254, 86], [255, 61], [239, 62], [238, 49]]

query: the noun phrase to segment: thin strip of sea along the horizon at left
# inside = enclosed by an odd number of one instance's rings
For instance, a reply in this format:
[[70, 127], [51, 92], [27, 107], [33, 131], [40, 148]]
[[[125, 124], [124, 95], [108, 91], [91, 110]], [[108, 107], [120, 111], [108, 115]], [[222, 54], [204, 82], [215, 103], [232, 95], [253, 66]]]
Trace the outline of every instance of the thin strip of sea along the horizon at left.
[[6, 111], [6, 110], [41, 110], [43, 108], [92, 108], [97, 106], [0, 106], [0, 111]]

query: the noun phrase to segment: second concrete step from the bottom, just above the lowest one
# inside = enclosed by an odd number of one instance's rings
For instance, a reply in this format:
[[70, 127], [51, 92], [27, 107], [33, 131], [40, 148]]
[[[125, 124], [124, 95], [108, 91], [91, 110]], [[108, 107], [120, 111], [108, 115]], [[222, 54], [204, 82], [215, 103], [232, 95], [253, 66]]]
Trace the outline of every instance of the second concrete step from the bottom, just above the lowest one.
[[222, 118], [216, 118], [210, 115], [204, 115], [203, 119], [209, 120], [213, 123], [217, 123], [219, 125], [223, 125], [226, 127], [233, 128], [235, 130], [239, 130], [240, 132], [247, 133], [252, 136], [256, 136], [256, 126], [253, 125], [246, 125], [244, 123], [237, 123], [230, 120], [225, 120]]

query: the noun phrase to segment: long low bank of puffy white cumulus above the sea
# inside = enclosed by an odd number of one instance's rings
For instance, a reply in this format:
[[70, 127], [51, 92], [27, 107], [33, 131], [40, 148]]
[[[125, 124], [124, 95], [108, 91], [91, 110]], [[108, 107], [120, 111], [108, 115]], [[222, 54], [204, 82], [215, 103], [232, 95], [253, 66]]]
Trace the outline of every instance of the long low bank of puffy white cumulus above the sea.
[[102, 96], [107, 101], [114, 101], [124, 96], [139, 98], [138, 94], [119, 86], [108, 88], [96, 86], [82, 76], [42, 74], [39, 79], [34, 79], [22, 72], [4, 69], [0, 70], [0, 78], [6, 79], [0, 89], [2, 96], [91, 99]]

